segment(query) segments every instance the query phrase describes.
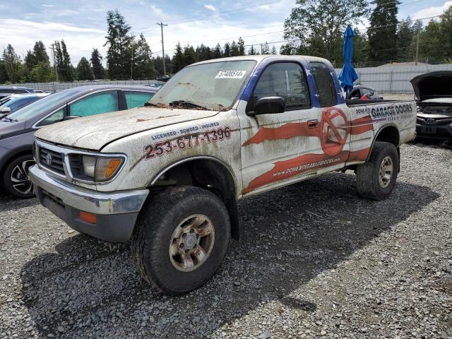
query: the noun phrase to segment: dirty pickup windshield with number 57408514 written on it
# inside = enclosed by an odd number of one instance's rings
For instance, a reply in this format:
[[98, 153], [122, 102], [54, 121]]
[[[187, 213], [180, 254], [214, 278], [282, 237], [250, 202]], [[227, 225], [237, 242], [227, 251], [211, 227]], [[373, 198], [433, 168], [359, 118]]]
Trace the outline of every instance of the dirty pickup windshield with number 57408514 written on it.
[[218, 61], [186, 67], [149, 100], [151, 105], [191, 103], [206, 109], [231, 107], [256, 61]]

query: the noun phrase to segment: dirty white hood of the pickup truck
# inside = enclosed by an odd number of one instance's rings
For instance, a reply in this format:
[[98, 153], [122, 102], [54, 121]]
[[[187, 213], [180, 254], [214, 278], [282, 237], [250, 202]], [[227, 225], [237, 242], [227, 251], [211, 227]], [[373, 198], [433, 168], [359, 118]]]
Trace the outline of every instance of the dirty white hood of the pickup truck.
[[43, 127], [35, 136], [58, 145], [101, 150], [107, 143], [125, 136], [215, 114], [218, 111], [139, 107], [62, 121]]

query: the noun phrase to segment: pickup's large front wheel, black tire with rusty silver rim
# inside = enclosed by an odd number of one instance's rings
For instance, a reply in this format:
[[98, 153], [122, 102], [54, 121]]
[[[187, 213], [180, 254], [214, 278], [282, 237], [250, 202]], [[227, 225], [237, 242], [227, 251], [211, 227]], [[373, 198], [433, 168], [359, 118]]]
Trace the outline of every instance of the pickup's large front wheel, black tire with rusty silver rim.
[[169, 295], [200, 287], [220, 267], [230, 218], [215, 194], [171, 187], [149, 199], [133, 230], [131, 249], [141, 277]]

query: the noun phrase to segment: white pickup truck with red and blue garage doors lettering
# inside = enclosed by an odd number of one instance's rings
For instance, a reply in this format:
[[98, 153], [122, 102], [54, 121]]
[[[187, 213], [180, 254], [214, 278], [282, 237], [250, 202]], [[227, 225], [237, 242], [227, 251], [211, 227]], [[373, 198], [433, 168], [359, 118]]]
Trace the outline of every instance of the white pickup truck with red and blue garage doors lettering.
[[30, 177], [70, 227], [131, 239], [143, 278], [182, 294], [239, 237], [241, 198], [345, 169], [358, 194], [386, 198], [415, 119], [414, 101], [345, 102], [325, 59], [215, 59], [179, 71], [145, 107], [40, 129]]

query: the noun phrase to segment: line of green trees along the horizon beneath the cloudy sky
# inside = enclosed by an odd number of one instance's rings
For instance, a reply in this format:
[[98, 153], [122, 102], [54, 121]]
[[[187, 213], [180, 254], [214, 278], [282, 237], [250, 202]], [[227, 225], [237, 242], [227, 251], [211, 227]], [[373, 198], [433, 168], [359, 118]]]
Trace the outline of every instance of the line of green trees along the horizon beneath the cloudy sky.
[[[422, 20], [398, 20], [398, 0], [375, 0], [373, 10], [367, 0], [297, 0], [284, 23], [286, 41], [277, 51], [270, 44], [246, 45], [237, 42], [203, 43], [194, 47], [177, 43], [170, 58], [165, 54], [167, 73], [176, 73], [197, 61], [254, 54], [304, 54], [325, 57], [335, 67], [343, 64], [343, 32], [347, 24], [357, 25], [369, 18], [365, 31], [355, 28], [355, 66], [379, 66], [389, 62], [426, 61], [431, 64], [452, 62], [452, 6], [427, 25]], [[22, 59], [8, 44], [0, 59], [0, 83], [155, 79], [163, 76], [162, 57], [153, 53], [143, 34], [131, 34], [131, 26], [119, 11], [107, 12], [106, 69], [102, 55], [93, 48], [90, 59], [82, 57], [76, 67], [71, 63], [64, 40], [55, 41], [49, 54], [42, 41], [28, 50]], [[154, 54], [157, 54], [155, 57]], [[53, 63], [52, 63], [53, 64]]]

